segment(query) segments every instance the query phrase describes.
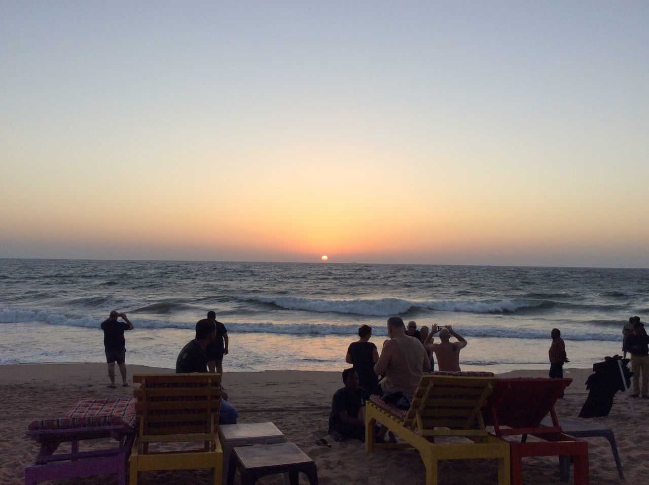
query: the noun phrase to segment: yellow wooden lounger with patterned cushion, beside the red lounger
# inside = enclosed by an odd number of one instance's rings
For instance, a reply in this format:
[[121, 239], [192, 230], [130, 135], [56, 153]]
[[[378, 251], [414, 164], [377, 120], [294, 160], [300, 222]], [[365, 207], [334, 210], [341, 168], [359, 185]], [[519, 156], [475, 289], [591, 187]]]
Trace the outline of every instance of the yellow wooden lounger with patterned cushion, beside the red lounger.
[[[407, 412], [399, 413], [372, 396], [365, 406], [365, 449], [415, 447], [426, 467], [426, 485], [437, 485], [439, 460], [496, 458], [498, 484], [508, 485], [509, 445], [487, 433], [480, 412], [496, 378], [446, 374], [424, 374]], [[386, 426], [406, 443], [375, 443], [375, 423]], [[450, 436], [468, 440], [435, 443], [437, 437]]]

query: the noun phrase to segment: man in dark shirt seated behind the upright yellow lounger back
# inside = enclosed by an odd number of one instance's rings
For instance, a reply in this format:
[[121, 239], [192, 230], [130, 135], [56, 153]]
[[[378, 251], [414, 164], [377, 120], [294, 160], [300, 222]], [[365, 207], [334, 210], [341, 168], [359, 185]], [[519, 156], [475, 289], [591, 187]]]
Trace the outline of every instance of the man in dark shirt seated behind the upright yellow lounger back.
[[[207, 372], [207, 356], [205, 349], [216, 336], [214, 320], [204, 318], [196, 323], [196, 338], [187, 343], [176, 359], [176, 373]], [[221, 387], [221, 410], [219, 424], [236, 425], [239, 413], [228, 403], [228, 394]]]

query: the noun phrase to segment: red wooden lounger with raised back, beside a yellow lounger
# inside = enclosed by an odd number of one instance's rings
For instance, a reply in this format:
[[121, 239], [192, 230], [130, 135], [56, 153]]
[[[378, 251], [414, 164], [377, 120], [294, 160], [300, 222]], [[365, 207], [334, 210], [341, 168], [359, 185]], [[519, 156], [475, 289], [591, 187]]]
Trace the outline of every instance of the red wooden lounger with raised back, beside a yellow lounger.
[[[485, 425], [494, 427], [496, 438], [522, 435], [508, 441], [511, 484], [522, 485], [522, 458], [526, 456], [572, 456], [574, 483], [588, 485], [588, 443], [563, 434], [554, 404], [572, 379], [498, 379], [482, 409]], [[541, 425], [548, 412], [552, 426]], [[531, 434], [544, 441], [525, 441]]]

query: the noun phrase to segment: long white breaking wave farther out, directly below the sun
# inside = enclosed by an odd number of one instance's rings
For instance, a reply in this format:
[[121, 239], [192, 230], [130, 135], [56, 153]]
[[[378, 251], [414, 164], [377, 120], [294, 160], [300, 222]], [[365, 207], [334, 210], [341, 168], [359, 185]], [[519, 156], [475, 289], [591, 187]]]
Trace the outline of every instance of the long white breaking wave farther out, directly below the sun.
[[251, 297], [250, 295], [238, 297], [244, 301], [252, 301], [275, 306], [285, 310], [304, 310], [317, 313], [339, 313], [361, 316], [387, 317], [390, 315], [403, 315], [418, 308], [436, 310], [439, 312], [467, 312], [467, 313], [514, 313], [526, 309], [545, 310], [563, 304], [549, 300], [441, 300], [441, 301], [413, 301], [400, 298], [380, 299], [353, 299], [353, 300], [328, 300], [321, 298], [297, 297]]

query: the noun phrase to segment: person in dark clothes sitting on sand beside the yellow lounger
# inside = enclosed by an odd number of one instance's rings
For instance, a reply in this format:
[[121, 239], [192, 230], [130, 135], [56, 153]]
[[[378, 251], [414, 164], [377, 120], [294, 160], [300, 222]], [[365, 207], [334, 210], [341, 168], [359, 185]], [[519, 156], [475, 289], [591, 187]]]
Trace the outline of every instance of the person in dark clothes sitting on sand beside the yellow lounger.
[[337, 390], [331, 400], [329, 434], [334, 441], [344, 441], [345, 438], [365, 441], [365, 401], [354, 369], [343, 371], [343, 383], [345, 387]]

